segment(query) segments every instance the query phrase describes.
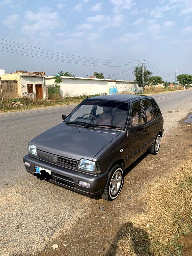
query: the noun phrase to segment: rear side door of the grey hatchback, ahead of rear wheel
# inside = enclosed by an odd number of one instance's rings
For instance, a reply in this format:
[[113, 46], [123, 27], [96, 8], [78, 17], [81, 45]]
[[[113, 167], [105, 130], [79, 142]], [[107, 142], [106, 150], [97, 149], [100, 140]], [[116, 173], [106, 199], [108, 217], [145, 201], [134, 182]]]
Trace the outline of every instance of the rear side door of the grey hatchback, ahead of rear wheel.
[[152, 144], [160, 131], [159, 116], [151, 99], [142, 100], [148, 124], [148, 144]]

